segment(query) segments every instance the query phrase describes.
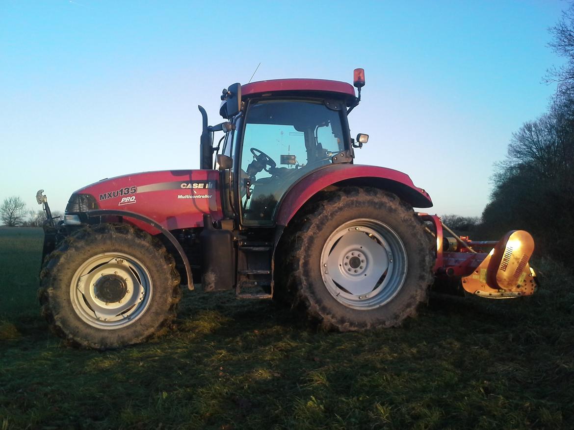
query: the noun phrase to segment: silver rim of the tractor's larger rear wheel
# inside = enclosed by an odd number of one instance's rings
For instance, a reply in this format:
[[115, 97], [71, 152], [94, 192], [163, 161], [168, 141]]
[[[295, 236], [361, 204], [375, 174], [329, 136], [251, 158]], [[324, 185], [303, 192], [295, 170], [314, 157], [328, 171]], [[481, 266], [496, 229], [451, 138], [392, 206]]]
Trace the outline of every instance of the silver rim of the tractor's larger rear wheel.
[[336, 229], [321, 252], [327, 291], [344, 306], [367, 310], [383, 306], [401, 290], [408, 259], [390, 226], [370, 218]]

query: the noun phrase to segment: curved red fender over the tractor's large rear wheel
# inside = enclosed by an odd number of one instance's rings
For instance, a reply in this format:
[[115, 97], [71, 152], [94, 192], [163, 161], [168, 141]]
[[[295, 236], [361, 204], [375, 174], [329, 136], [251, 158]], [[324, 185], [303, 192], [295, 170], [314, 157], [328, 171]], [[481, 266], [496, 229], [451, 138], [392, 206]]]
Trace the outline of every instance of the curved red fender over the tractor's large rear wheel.
[[309, 198], [328, 186], [371, 186], [391, 191], [415, 208], [432, 206], [429, 194], [414, 186], [405, 173], [386, 167], [335, 164], [314, 171], [290, 187], [279, 204], [277, 224], [287, 225]]

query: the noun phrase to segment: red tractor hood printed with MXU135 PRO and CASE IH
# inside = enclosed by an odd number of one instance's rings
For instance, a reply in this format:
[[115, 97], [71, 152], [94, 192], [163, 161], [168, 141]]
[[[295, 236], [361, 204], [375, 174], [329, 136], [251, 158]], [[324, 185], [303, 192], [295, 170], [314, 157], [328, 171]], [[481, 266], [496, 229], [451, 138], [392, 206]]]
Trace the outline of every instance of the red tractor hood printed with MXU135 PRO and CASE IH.
[[[66, 213], [122, 210], [152, 218], [168, 230], [200, 227], [203, 214], [222, 218], [218, 181], [216, 170], [164, 170], [102, 179], [75, 191]], [[133, 224], [139, 226], [136, 220]]]

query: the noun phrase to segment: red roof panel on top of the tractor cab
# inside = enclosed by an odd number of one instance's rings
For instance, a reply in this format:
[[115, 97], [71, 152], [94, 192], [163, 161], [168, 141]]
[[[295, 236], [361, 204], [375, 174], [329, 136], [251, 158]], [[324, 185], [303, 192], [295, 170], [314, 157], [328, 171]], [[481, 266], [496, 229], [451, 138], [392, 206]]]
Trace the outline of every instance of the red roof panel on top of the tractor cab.
[[241, 96], [277, 91], [325, 91], [355, 97], [351, 84], [326, 79], [273, 79], [241, 85]]

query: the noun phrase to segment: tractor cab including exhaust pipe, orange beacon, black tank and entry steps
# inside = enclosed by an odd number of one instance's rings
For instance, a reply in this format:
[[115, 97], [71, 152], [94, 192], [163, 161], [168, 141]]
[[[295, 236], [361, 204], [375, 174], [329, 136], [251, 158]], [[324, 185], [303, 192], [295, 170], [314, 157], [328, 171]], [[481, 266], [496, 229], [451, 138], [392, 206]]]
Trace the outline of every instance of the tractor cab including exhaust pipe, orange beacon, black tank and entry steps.
[[[357, 75], [360, 89], [362, 69]], [[220, 114], [227, 121], [217, 126], [207, 126], [199, 107], [201, 169], [220, 171], [224, 216], [215, 223], [204, 218], [202, 283], [206, 290], [235, 285], [240, 297], [270, 297], [273, 255], [286, 225], [279, 220], [281, 208], [294, 208], [288, 197], [300, 194], [297, 186], [307, 188], [301, 185], [305, 178], [352, 164], [355, 142], [347, 112], [360, 97], [348, 83], [281, 79], [233, 84], [221, 98]], [[217, 146], [215, 131], [225, 133]], [[229, 257], [231, 249], [236, 258]]]

